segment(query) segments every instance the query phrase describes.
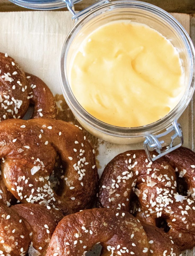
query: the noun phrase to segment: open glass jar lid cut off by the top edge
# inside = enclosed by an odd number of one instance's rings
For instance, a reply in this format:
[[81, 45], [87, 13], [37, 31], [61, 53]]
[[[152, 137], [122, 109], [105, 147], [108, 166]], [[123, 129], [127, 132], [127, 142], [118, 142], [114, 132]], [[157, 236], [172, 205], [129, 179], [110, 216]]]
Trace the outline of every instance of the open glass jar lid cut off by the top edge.
[[[66, 0], [9, 0], [16, 5], [34, 10], [53, 10], [67, 6]], [[73, 0], [78, 3], [82, 0]]]

